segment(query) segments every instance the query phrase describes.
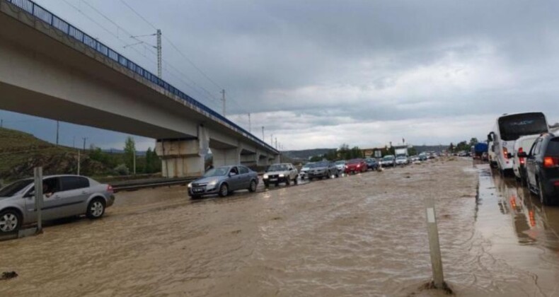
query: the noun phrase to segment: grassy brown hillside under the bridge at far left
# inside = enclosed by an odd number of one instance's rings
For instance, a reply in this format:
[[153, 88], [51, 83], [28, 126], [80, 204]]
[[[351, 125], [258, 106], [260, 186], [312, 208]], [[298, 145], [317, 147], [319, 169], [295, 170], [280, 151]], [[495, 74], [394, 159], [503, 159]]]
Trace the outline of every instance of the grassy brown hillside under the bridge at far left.
[[[0, 128], [0, 180], [11, 181], [33, 176], [33, 168], [43, 167], [43, 173], [77, 173], [78, 153], [74, 148], [55, 146], [31, 134]], [[81, 156], [81, 174], [98, 175], [110, 168]]]

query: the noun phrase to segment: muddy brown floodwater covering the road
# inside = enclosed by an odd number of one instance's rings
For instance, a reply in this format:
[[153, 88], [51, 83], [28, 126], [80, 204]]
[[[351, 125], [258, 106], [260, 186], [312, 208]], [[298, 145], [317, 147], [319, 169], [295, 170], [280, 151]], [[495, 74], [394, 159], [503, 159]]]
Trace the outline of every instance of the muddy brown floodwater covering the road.
[[558, 209], [466, 159], [194, 202], [185, 190], [122, 192], [103, 219], [1, 242], [0, 271], [18, 277], [0, 296], [439, 296], [420, 289], [425, 197], [459, 296], [559, 292]]

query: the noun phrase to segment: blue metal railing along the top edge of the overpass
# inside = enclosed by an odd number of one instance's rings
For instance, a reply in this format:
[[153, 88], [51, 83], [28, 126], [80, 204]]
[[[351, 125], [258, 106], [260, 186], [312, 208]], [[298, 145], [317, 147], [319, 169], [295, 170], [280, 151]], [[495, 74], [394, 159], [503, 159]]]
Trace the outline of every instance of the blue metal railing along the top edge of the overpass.
[[103, 45], [103, 43], [98, 42], [95, 38], [87, 35], [86, 33], [83, 33], [78, 28], [62, 20], [62, 18], [54, 16], [54, 14], [52, 14], [50, 11], [47, 11], [45, 8], [42, 8], [40, 5], [35, 4], [35, 2], [30, 0], [6, 0], [6, 1], [10, 2], [15, 6], [18, 6], [24, 11], [27, 11], [31, 15], [40, 19], [41, 21], [49, 25], [52, 25], [52, 27], [57, 28], [63, 33], [66, 33], [67, 35], [73, 37], [75, 40], [82, 42], [84, 45], [91, 47], [91, 49], [95, 50], [96, 52], [99, 52], [100, 54], [103, 54], [105, 57], [109, 57], [113, 61], [133, 71], [139, 76], [142, 76], [143, 78], [146, 78], [148, 81], [151, 81], [151, 83], [155, 83], [157, 86], [164, 88], [169, 93], [178, 96], [179, 98], [185, 100], [190, 105], [197, 107], [203, 112], [207, 112], [208, 115], [212, 117], [216, 117], [218, 120], [221, 120], [223, 122], [226, 122], [226, 124], [229, 124], [231, 128], [237, 130], [237, 132], [243, 134], [243, 136], [247, 137], [248, 139], [255, 141], [261, 146], [269, 148], [272, 151], [276, 151], [275, 148], [273, 148], [272, 146], [266, 144], [264, 141], [256, 138], [253, 134], [250, 134], [245, 129], [239, 127], [238, 124], [231, 122], [223, 115], [219, 115], [219, 113], [215, 112], [214, 110], [207, 107], [206, 105], [203, 105], [202, 103], [198, 102], [197, 100], [190, 97], [189, 95], [186, 95], [185, 93], [183, 93], [183, 91], [180, 91], [178, 88], [171, 86], [171, 84], [167, 83], [166, 81], [163, 81], [155, 74], [152, 74], [151, 72], [142, 68], [142, 66], [139, 66], [138, 64], [130, 61], [126, 57], [122, 56], [122, 54], [119, 54], [118, 52], [111, 50], [110, 47]]

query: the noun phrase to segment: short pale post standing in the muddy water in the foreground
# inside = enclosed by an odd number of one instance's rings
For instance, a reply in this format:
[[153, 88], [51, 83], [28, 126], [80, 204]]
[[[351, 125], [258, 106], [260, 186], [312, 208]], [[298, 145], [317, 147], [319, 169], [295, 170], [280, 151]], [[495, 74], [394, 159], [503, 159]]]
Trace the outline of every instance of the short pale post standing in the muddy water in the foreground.
[[439, 230], [437, 228], [437, 217], [435, 216], [434, 200], [432, 198], [425, 199], [425, 211], [427, 214], [427, 233], [429, 235], [433, 283], [437, 289], [443, 289], [444, 277], [442, 273], [441, 248], [439, 246]]

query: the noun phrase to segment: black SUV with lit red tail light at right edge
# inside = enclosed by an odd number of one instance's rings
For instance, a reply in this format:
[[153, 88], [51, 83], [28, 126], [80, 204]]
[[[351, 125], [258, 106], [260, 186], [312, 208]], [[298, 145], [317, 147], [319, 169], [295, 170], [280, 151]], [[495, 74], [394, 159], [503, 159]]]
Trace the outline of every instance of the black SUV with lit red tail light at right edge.
[[541, 204], [559, 202], [559, 136], [542, 134], [534, 141], [530, 153], [518, 153], [526, 158], [528, 188], [538, 194]]

